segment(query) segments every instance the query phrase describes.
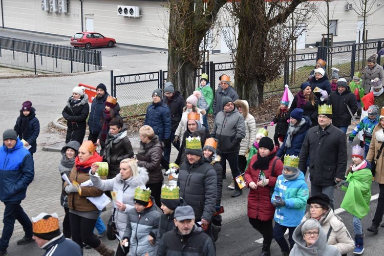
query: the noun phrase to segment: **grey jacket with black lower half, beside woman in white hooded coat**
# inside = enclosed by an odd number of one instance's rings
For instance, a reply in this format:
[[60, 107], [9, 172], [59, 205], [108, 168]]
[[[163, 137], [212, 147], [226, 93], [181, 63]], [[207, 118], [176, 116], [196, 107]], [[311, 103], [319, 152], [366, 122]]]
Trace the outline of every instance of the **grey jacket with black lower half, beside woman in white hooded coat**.
[[220, 111], [214, 121], [211, 137], [218, 140], [220, 153], [239, 154], [240, 142], [245, 137], [244, 117], [234, 108], [232, 112]]

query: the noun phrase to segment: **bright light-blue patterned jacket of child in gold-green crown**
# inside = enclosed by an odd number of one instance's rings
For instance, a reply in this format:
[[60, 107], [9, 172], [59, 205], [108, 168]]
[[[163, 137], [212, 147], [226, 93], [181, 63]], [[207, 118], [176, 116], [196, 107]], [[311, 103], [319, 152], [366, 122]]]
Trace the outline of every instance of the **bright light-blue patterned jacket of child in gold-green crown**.
[[286, 180], [283, 175], [279, 175], [271, 202], [275, 196], [280, 196], [285, 201], [285, 206], [276, 207], [274, 221], [285, 227], [298, 226], [305, 214], [308, 195], [308, 185], [302, 172], [295, 180]]

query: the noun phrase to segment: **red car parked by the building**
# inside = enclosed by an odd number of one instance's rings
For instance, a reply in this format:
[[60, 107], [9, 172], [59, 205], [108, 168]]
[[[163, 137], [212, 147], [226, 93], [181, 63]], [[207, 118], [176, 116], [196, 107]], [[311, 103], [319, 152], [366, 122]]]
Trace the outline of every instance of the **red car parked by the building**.
[[71, 46], [75, 48], [84, 47], [113, 47], [116, 45], [116, 40], [111, 37], [105, 37], [96, 32], [79, 32], [71, 37]]

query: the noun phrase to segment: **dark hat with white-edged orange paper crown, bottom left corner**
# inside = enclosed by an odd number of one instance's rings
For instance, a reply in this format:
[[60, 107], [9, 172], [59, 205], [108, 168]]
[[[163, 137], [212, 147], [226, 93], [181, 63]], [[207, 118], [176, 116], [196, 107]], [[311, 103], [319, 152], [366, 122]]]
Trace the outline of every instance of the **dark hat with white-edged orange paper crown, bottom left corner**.
[[60, 236], [59, 217], [56, 212], [53, 214], [41, 212], [38, 216], [32, 217], [32, 230], [35, 237], [48, 241]]

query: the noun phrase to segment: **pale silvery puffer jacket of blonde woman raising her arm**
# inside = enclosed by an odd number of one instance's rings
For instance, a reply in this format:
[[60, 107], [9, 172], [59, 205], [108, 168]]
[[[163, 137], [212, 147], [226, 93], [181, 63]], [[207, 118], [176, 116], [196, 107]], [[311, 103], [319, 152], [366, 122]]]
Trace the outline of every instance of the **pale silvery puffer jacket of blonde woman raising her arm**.
[[[90, 173], [91, 174], [91, 173]], [[123, 192], [122, 203], [125, 204], [125, 210], [115, 209], [115, 223], [119, 236], [124, 236], [126, 228], [126, 220], [128, 218], [128, 211], [134, 209], [133, 197], [135, 194], [136, 187], [140, 186], [145, 189], [145, 184], [148, 182], [148, 173], [145, 168], [138, 168], [138, 175], [136, 177], [130, 177], [129, 179], [123, 180], [121, 174], [116, 175], [113, 179], [101, 180], [98, 175], [90, 175], [93, 185], [102, 191], [116, 191]], [[115, 200], [112, 205], [115, 207]]]

